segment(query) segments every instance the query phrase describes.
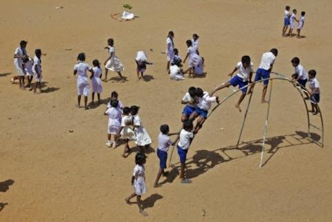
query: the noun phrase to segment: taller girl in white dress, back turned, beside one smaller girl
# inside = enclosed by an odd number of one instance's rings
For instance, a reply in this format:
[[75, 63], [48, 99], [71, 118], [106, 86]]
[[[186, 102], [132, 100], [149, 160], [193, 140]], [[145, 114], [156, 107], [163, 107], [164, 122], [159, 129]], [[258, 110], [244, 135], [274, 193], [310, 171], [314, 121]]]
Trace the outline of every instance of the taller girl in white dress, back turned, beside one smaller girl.
[[[89, 71], [91, 73], [91, 77], [93, 77], [93, 69], [89, 66], [89, 64], [85, 63], [85, 54], [80, 53], [77, 56], [77, 64], [74, 66], [74, 75], [78, 75], [77, 77], [77, 107], [80, 109], [81, 106], [81, 95], [84, 95], [84, 108], [85, 110], [90, 109], [87, 106], [88, 103], [88, 95], [90, 93], [90, 86], [89, 86], [89, 80], [88, 75], [86, 74], [86, 71]], [[36, 80], [37, 81], [37, 80]], [[36, 90], [36, 86], [35, 86]]]

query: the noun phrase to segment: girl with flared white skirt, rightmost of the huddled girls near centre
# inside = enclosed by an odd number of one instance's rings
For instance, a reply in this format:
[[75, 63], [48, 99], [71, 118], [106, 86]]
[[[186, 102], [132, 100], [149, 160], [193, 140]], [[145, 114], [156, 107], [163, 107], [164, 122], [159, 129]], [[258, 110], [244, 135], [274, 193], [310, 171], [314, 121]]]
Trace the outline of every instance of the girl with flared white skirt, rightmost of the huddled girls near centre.
[[149, 133], [147, 133], [147, 130], [142, 126], [142, 121], [140, 120], [140, 116], [138, 115], [138, 109], [140, 109], [140, 107], [131, 106], [130, 112], [131, 115], [133, 115], [133, 131], [136, 134], [136, 144], [144, 153], [143, 147], [145, 147], [145, 149], [149, 149], [149, 145], [151, 144], [151, 138], [149, 136]]

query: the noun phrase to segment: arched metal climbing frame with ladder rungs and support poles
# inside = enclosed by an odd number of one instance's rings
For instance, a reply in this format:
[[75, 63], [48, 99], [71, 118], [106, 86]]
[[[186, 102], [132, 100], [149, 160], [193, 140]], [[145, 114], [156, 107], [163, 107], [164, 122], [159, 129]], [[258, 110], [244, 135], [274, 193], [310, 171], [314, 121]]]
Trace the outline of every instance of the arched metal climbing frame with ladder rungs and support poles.
[[[311, 117], [312, 117], [312, 115], [309, 115], [309, 110], [308, 110], [308, 104], [307, 104], [307, 102], [311, 102], [311, 103], [315, 103], [315, 102], [312, 102], [311, 100], [309, 100], [309, 98], [308, 98], [308, 95], [309, 95], [308, 91], [306, 89], [302, 88], [301, 86], [297, 86], [296, 84], [294, 84], [293, 81], [290, 80], [290, 79], [288, 79], [288, 77], [286, 77], [285, 75], [282, 75], [280, 73], [275, 73], [275, 72], [271, 72], [271, 74], [275, 75], [275, 77], [270, 77], [270, 78], [264, 79], [264, 80], [270, 80], [270, 92], [269, 92], [270, 94], [268, 95], [269, 96], [269, 101], [268, 101], [268, 109], [267, 109], [267, 113], [266, 113], [266, 121], [265, 121], [265, 126], [264, 126], [263, 142], [262, 142], [262, 145], [261, 145], [261, 160], [260, 160], [260, 163], [259, 163], [259, 167], [262, 167], [263, 157], [264, 157], [264, 151], [265, 151], [266, 133], [267, 133], [267, 130], [268, 130], [268, 117], [269, 117], [269, 113], [270, 113], [270, 101], [271, 101], [271, 95], [272, 95], [272, 89], [273, 89], [273, 80], [283, 80], [283, 81], [289, 82], [289, 83], [293, 84], [293, 86], [295, 87], [295, 89], [297, 89], [297, 91], [299, 92], [299, 95], [301, 95], [302, 100], [304, 102], [304, 107], [306, 108], [306, 119], [307, 119], [307, 122], [308, 122], [308, 131], [307, 131], [308, 139], [311, 140], [311, 141], [313, 141], [313, 142], [315, 142], [315, 144], [319, 145], [320, 147], [324, 147], [324, 122], [323, 122], [322, 112], [321, 112], [321, 109], [318, 106], [318, 104], [317, 104], [317, 108], [318, 108], [319, 112], [317, 113], [317, 116], [320, 117], [321, 127], [317, 127], [316, 125], [314, 125], [314, 124], [311, 123]], [[251, 84], [248, 84], [248, 86], [250, 86], [252, 84], [257, 84], [259, 82], [263, 82], [264, 80], [259, 80], [259, 81], [256, 81], [256, 82], [252, 82]], [[228, 100], [229, 98], [231, 98], [233, 95], [237, 94], [239, 91], [241, 91], [241, 89], [244, 89], [244, 88], [246, 88], [248, 86], [243, 86], [240, 89], [234, 90], [232, 93], [230, 93], [230, 95], [228, 95], [225, 98], [223, 98], [223, 100], [221, 100], [219, 102], [219, 104], [216, 104], [216, 106], [212, 109], [212, 111], [210, 111], [210, 113], [208, 115], [208, 118], [210, 118], [210, 115], [212, 115], [212, 113], [214, 113], [214, 111], [216, 109], [218, 109], [221, 106], [221, 104], [223, 104], [223, 102], [225, 102], [226, 100]], [[252, 94], [253, 94], [253, 91], [250, 94], [250, 97], [248, 99], [248, 104], [247, 104], [247, 107], [246, 107], [246, 112], [244, 113], [244, 116], [243, 116], [243, 122], [241, 124], [239, 138], [237, 140], [237, 147], [239, 146], [239, 143], [240, 143], [240, 140], [241, 140], [241, 136], [242, 136], [242, 132], [243, 132], [243, 128], [244, 128], [244, 124], [246, 123], [246, 118], [247, 118], [247, 114], [248, 114], [248, 111], [249, 111]], [[205, 120], [203, 120], [202, 124], [206, 120], [208, 120], [208, 118], [206, 118]], [[312, 128], [321, 132], [321, 139], [320, 139], [320, 141], [313, 140], [313, 138], [311, 138], [311, 129]], [[174, 145], [172, 147], [171, 155], [170, 155], [170, 158], [169, 158], [169, 165], [170, 166], [172, 165], [172, 156], [173, 156], [173, 152], [174, 152], [174, 147], [175, 146], [176, 145]]]

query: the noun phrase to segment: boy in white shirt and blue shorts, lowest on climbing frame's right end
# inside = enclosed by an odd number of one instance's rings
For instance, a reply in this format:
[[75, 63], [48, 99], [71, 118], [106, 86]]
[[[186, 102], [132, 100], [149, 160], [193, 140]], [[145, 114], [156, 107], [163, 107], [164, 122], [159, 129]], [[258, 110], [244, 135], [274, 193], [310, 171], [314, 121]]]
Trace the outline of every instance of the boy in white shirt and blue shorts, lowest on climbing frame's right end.
[[317, 113], [320, 111], [317, 104], [320, 102], [320, 82], [318, 82], [316, 78], [316, 71], [314, 69], [311, 69], [309, 71], [309, 88], [311, 90], [310, 95], [310, 101], [311, 101], [311, 113], [313, 115], [317, 115]]

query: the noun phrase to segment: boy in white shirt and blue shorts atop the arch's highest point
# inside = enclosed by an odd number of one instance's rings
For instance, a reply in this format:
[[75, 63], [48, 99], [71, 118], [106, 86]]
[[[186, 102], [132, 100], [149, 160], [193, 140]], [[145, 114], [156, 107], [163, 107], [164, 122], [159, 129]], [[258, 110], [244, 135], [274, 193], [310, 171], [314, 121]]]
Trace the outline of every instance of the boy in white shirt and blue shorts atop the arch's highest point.
[[[275, 64], [275, 57], [277, 57], [277, 55], [278, 55], [277, 48], [272, 48], [270, 52], [261, 55], [261, 64], [259, 64], [259, 67], [257, 69], [255, 75], [255, 82], [270, 78], [270, 73], [272, 71], [273, 64]], [[263, 83], [264, 87], [261, 93], [261, 103], [267, 103], [268, 101], [265, 100], [265, 96], [266, 96], [266, 91], [268, 91], [268, 80], [264, 80]], [[252, 83], [247, 94], [252, 93], [254, 86], [255, 84]]]

